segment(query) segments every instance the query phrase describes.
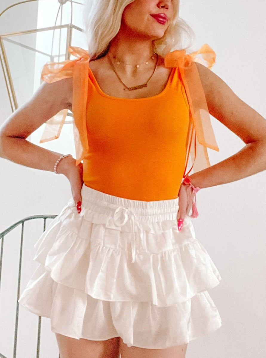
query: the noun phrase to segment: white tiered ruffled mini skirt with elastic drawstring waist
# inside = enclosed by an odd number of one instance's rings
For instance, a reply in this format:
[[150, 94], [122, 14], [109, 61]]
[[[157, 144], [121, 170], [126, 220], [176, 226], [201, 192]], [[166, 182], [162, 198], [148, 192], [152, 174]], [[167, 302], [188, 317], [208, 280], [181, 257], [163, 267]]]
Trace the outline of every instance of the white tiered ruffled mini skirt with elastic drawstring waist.
[[178, 198], [144, 202], [83, 185], [35, 243], [39, 266], [20, 295], [51, 331], [72, 338], [120, 336], [129, 347], [162, 349], [221, 326], [207, 290], [221, 276], [195, 238], [179, 232]]

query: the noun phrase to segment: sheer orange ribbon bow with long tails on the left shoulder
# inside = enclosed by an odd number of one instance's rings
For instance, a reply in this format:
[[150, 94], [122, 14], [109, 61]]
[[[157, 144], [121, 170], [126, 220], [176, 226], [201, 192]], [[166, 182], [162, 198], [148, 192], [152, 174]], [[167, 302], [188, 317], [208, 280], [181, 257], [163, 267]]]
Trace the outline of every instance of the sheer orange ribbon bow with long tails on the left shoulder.
[[[73, 131], [76, 164], [78, 165], [88, 153], [89, 148], [86, 128], [89, 53], [80, 47], [71, 46], [68, 51], [77, 59], [63, 62], [47, 62], [41, 72], [41, 78], [45, 82], [53, 83], [63, 78], [73, 77]], [[61, 110], [46, 122], [40, 143], [59, 138], [67, 113], [68, 109]]]

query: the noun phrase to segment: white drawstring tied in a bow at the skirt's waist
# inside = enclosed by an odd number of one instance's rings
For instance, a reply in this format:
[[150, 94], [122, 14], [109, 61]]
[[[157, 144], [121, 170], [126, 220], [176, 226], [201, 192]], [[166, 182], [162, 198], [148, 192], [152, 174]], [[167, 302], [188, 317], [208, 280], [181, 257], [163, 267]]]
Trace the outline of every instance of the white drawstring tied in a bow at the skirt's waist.
[[[120, 215], [123, 214], [123, 216], [124, 216], [124, 220], [123, 220], [122, 223], [118, 222], [118, 218], [119, 218], [118, 215], [119, 214]], [[138, 218], [136, 217], [136, 214], [133, 211], [129, 210], [128, 208], [125, 208], [123, 206], [119, 206], [114, 212], [114, 223], [115, 223], [115, 225], [116, 226], [123, 226], [128, 221], [128, 219], [130, 220], [130, 222], [132, 224], [132, 231], [133, 231], [133, 240], [131, 242], [131, 252], [132, 252], [132, 261], [131, 262], [135, 262], [135, 257], [136, 257], [135, 224], [137, 226], [137, 229], [138, 229], [139, 235], [141, 237], [141, 240], [143, 240], [143, 232], [142, 232], [141, 226], [139, 225]]]

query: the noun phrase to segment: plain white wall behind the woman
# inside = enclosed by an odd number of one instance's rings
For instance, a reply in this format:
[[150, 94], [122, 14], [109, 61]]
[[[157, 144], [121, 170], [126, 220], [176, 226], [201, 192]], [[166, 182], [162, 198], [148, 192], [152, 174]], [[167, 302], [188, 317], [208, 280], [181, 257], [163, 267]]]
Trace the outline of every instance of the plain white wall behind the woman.
[[[1, 0], [0, 11], [10, 3]], [[263, 0], [181, 0], [180, 13], [196, 33], [193, 48], [208, 43], [217, 54], [213, 72], [266, 117], [266, 3]], [[21, 18], [30, 21], [25, 16]], [[1, 123], [11, 113], [1, 73], [0, 85]], [[250, 122], [252, 125], [252, 118]], [[217, 120], [213, 119], [212, 123], [220, 147], [219, 153], [210, 152], [211, 163], [215, 164], [236, 153], [243, 143]], [[67, 152], [62, 148], [62, 153]], [[59, 213], [70, 197], [69, 184], [60, 175], [24, 168], [3, 159], [0, 159], [0, 174], [0, 232], [26, 216]], [[210, 290], [222, 327], [190, 342], [188, 358], [265, 356], [265, 179], [263, 172], [197, 194], [200, 212], [194, 219], [197, 238], [222, 276], [220, 285]], [[35, 236], [28, 238], [32, 257], [36, 240]], [[18, 242], [14, 241], [14, 245]], [[29, 266], [28, 277], [33, 266]], [[21, 286], [25, 284], [26, 278]]]

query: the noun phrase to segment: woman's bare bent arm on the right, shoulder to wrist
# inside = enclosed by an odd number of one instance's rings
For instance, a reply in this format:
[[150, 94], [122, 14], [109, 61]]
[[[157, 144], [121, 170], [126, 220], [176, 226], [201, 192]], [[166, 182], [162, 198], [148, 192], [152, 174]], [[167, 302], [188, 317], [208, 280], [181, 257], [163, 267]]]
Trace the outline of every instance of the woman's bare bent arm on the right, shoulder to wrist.
[[215, 73], [197, 63], [210, 114], [240, 137], [245, 146], [210, 168], [191, 175], [196, 187], [230, 183], [266, 169], [266, 120], [243, 102]]

